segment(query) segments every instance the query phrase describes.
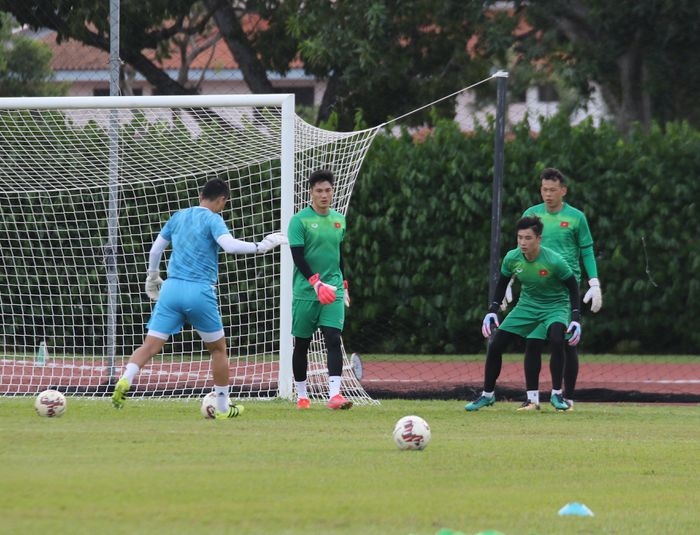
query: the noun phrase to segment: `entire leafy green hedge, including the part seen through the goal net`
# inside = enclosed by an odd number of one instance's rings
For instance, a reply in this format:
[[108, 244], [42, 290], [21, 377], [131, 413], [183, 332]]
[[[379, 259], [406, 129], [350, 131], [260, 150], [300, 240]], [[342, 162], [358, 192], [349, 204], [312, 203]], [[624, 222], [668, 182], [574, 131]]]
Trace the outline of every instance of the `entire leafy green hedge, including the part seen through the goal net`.
[[[16, 124], [6, 122], [4, 128], [21, 124], [23, 135], [17, 139], [35, 138], [32, 146], [48, 151], [53, 143], [47, 132], [58, 129], [44, 128], [22, 113], [18, 112]], [[181, 128], [146, 129], [143, 121], [136, 117], [125, 126], [133, 138], [139, 135], [141, 148], [152, 142], [157, 152], [167, 137], [170, 146], [181, 143], [183, 153], [194, 153], [202, 162], [210, 143], [206, 137], [215, 135], [217, 128], [205, 128], [202, 146], [192, 148], [192, 139]], [[85, 145], [106, 147], [104, 132], [94, 125], [69, 134], [73, 137], [63, 141], [73, 156], [83, 155]], [[122, 157], [130, 164], [125, 168], [139, 170], [136, 180], [128, 181], [133, 185], [120, 192], [119, 262], [129, 268], [120, 270], [118, 335], [120, 343], [131, 348], [142, 336], [141, 317], [149, 308], [141, 296], [143, 237], [157, 232], [163, 213], [189, 204], [202, 180], [211, 177], [183, 171], [166, 185], [157, 162], [131, 147], [129, 136], [125, 139]], [[349, 349], [483, 350], [479, 324], [488, 303], [493, 146], [491, 129], [465, 135], [452, 122], [438, 123], [421, 142], [407, 134], [381, 135], [374, 141], [348, 213], [345, 256], [354, 301], [345, 332]], [[26, 164], [31, 158], [25, 150], [18, 141], [0, 152], [4, 165], [24, 165], [25, 176], [31, 179], [34, 171]], [[234, 150], [231, 154], [235, 157]], [[31, 347], [37, 337], [49, 337], [55, 338], [53, 345], [74, 346], [79, 352], [102, 343], [106, 221], [74, 218], [106, 211], [107, 168], [93, 158], [84, 154], [85, 167], [94, 167], [96, 177], [94, 186], [84, 191], [0, 195], [3, 344]], [[69, 172], [55, 152], [47, 152], [45, 160], [47, 168], [37, 180]], [[559, 167], [570, 177], [567, 200], [589, 218], [604, 307], [584, 318], [585, 350], [691, 353], [700, 347], [700, 332], [689, 327], [700, 312], [700, 278], [695, 276], [700, 269], [695, 228], [700, 198], [698, 132], [684, 124], [669, 124], [664, 130], [623, 137], [611, 126], [572, 127], [558, 118], [546, 122], [538, 136], [523, 125], [516, 127], [506, 144], [505, 162], [503, 252], [515, 245], [513, 225], [522, 211], [540, 202], [538, 176], [544, 167]], [[247, 174], [242, 167], [224, 178], [235, 187], [245, 182]], [[245, 184], [240, 185], [245, 190]], [[252, 222], [247, 229], [250, 237], [259, 237], [274, 229], [251, 207], [270, 192], [249, 195], [250, 199], [240, 199], [234, 212], [237, 220]], [[140, 210], [139, 199], [145, 197], [160, 199], [161, 211]], [[67, 213], [73, 218], [69, 220]], [[27, 255], [36, 239], [49, 244], [47, 249]], [[64, 258], [72, 263], [64, 265]], [[244, 280], [238, 276], [240, 270], [250, 270], [249, 281], [259, 277], [262, 282], [238, 282]], [[236, 274], [235, 280], [229, 280], [227, 272]], [[227, 259], [222, 274], [221, 293], [232, 296], [230, 302], [222, 302], [222, 309], [234, 317], [236, 343], [245, 344], [254, 333], [239, 325], [237, 315], [245, 315], [264, 296], [264, 279], [274, 276], [274, 269], [266, 266], [260, 271], [257, 265]], [[81, 296], [90, 296], [87, 306]]]

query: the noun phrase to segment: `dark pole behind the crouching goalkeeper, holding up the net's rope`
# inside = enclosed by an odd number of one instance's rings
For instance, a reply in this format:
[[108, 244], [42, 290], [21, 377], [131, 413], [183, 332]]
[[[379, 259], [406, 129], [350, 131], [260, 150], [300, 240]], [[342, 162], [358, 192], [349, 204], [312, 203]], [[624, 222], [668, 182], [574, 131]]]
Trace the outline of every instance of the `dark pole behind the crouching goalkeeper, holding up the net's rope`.
[[501, 197], [503, 193], [504, 142], [506, 124], [506, 89], [508, 73], [498, 71], [496, 86], [496, 131], [493, 151], [493, 197], [491, 200], [491, 257], [489, 261], [489, 305], [496, 291], [501, 261]]

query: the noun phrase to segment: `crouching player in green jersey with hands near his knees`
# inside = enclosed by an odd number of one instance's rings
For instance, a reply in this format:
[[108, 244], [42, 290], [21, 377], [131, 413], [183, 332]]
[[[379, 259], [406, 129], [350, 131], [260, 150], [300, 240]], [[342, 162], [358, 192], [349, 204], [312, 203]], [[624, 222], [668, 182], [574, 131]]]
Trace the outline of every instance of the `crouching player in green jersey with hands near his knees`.
[[[481, 326], [485, 338], [491, 336], [493, 326], [499, 327], [486, 351], [484, 390], [477, 399], [465, 405], [467, 411], [478, 411], [494, 404], [503, 351], [516, 336], [526, 338], [535, 329], [544, 330], [552, 345], [552, 385], [558, 389], [562, 383], [565, 334], [571, 333], [571, 345], [576, 345], [581, 338], [578, 284], [571, 268], [559, 254], [542, 247], [542, 221], [539, 218], [523, 217], [517, 222], [516, 229], [518, 247], [508, 251], [503, 258], [501, 276]], [[520, 299], [499, 325], [496, 312], [511, 277], [520, 281]], [[551, 403], [557, 410], [569, 408], [561, 395], [552, 396]], [[533, 408], [539, 409], [539, 405]]]

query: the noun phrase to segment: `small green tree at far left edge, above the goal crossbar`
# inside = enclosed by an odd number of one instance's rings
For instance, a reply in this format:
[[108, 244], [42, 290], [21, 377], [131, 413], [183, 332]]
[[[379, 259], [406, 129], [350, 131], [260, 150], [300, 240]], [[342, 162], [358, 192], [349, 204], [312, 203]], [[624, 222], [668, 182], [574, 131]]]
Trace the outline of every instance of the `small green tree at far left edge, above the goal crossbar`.
[[62, 95], [64, 85], [52, 83], [51, 50], [12, 33], [12, 17], [0, 13], [0, 97]]

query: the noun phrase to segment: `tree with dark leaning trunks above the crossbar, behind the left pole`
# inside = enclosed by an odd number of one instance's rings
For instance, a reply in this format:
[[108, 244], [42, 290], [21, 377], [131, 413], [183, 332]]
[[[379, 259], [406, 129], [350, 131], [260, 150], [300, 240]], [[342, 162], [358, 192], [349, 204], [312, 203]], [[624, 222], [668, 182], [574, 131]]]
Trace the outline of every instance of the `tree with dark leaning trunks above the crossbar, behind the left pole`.
[[[295, 48], [289, 38], [281, 39], [277, 11], [287, 2], [237, 0], [156, 0], [121, 2], [119, 57], [125, 65], [144, 76], [159, 94], [196, 93], [183, 76], [197, 54], [206, 53], [223, 39], [239, 63], [247, 85], [253, 92], [273, 92], [266, 66], [274, 64], [279, 72], [289, 69]], [[289, 2], [291, 4], [291, 2]], [[22, 24], [57, 32], [59, 42], [75, 39], [109, 52], [109, 3], [100, 0], [0, 0], [0, 11], [12, 13]], [[246, 17], [268, 17], [265, 25], [252, 33], [244, 29]], [[262, 34], [272, 34], [261, 37]], [[270, 37], [274, 36], [273, 39]], [[256, 43], [269, 42], [265, 57]], [[272, 48], [274, 46], [274, 48]], [[174, 52], [180, 56], [177, 79], [171, 78], [161, 60]], [[284, 63], [286, 58], [287, 63]]]

